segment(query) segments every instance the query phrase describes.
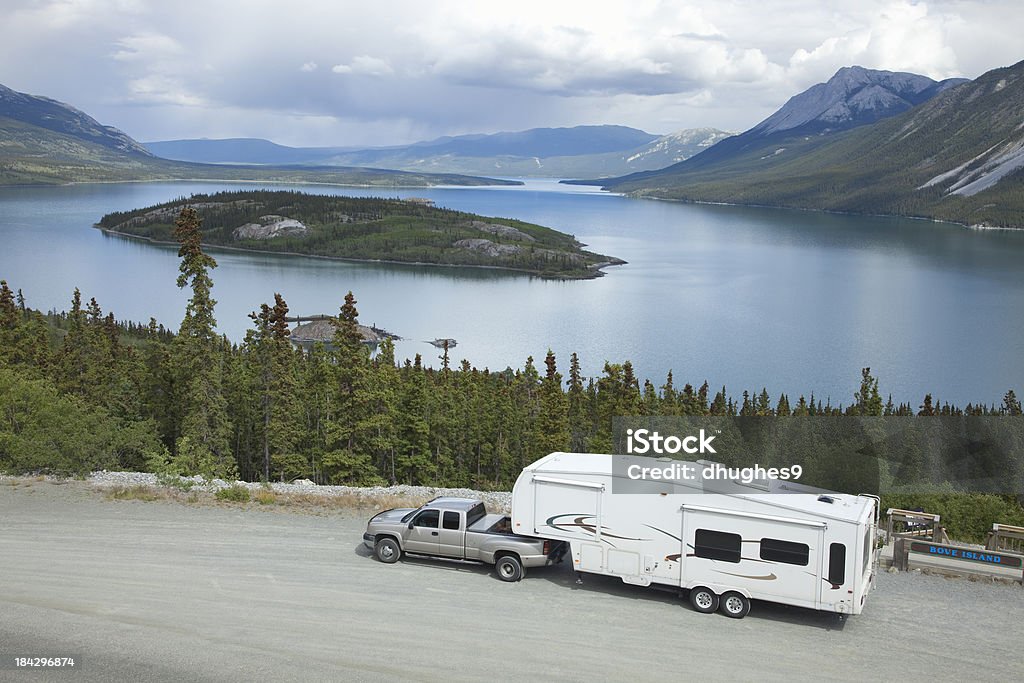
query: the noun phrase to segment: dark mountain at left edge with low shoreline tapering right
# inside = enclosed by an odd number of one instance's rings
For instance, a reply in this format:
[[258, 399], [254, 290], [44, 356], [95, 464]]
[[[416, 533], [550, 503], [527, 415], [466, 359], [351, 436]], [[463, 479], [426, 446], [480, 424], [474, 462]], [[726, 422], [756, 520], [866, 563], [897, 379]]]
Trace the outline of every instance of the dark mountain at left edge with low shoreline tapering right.
[[[281, 162], [279, 162], [280, 164]], [[127, 134], [48, 97], [0, 85], [0, 184], [156, 179], [274, 180], [373, 186], [509, 184], [453, 174], [385, 169], [273, 168], [159, 159]]]

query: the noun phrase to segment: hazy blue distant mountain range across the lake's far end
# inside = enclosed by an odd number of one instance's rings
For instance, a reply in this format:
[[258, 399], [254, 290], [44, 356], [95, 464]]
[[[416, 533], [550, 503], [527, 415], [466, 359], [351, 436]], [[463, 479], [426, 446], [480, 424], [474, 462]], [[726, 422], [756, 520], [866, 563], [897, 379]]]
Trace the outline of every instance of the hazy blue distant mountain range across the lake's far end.
[[652, 135], [626, 126], [534, 128], [389, 147], [288, 147], [257, 138], [147, 142], [167, 159], [220, 164], [316, 164], [432, 173], [621, 175], [688, 159], [728, 136], [714, 128]]

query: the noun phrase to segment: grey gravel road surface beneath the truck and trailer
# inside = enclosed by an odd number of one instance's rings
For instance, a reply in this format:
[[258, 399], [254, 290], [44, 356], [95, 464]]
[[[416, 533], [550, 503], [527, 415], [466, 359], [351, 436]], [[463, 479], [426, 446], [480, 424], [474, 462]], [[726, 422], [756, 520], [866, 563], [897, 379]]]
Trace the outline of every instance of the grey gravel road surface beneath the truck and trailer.
[[1024, 590], [879, 578], [863, 614], [674, 594], [361, 547], [366, 515], [112, 501], [0, 481], [0, 654], [74, 655], [9, 681], [996, 680], [1024, 672]]

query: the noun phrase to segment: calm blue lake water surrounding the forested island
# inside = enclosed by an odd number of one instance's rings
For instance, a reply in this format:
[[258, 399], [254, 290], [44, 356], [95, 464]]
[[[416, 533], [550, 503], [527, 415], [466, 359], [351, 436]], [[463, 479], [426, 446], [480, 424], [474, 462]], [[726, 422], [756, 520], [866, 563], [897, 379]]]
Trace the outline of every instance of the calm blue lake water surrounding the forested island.
[[[29, 304], [67, 309], [72, 290], [119, 318], [155, 315], [176, 329], [185, 293], [176, 249], [105, 237], [92, 223], [198, 191], [211, 182], [0, 188], [0, 278]], [[281, 187], [274, 185], [274, 187]], [[362, 188], [298, 187], [365, 196]], [[997, 402], [1024, 394], [1024, 233], [977, 232], [895, 218], [632, 200], [529, 181], [518, 188], [384, 190], [570, 232], [629, 261], [587, 282], [493, 270], [333, 262], [214, 252], [220, 330], [241, 340], [247, 313], [274, 292], [293, 312], [336, 313], [345, 292], [360, 319], [406, 338], [399, 357], [438, 351], [477, 367], [564, 371], [577, 351], [590, 375], [632, 359], [640, 377], [849, 403], [869, 366], [884, 392], [920, 403]]]

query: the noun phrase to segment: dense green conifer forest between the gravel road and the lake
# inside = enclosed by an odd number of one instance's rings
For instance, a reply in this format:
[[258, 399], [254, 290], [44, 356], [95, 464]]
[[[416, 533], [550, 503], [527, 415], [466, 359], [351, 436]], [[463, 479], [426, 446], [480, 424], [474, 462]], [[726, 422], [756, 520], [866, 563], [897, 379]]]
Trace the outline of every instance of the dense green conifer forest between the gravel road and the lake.
[[[959, 408], [931, 395], [918, 407], [887, 401], [867, 369], [850, 403], [834, 405], [813, 393], [734, 397], [707, 382], [680, 387], [671, 372], [655, 386], [628, 360], [585, 378], [575, 354], [563, 376], [550, 351], [540, 367], [527, 358], [515, 370], [454, 364], [446, 349], [437, 368], [419, 355], [399, 362], [388, 340], [371, 354], [350, 292], [330, 347], [293, 346], [281, 295], [250, 313], [246, 338], [231, 343], [215, 333], [216, 261], [201, 247], [200, 225], [195, 209], [175, 222], [177, 284], [191, 292], [176, 333], [152, 319], [119, 322], [78, 290], [70, 311], [44, 314], [0, 282], [0, 471], [508, 489], [550, 452], [611, 453], [616, 416], [1021, 416], [1013, 390], [998, 405]], [[860, 467], [851, 458], [844, 467]], [[1021, 466], [994, 464], [1016, 472], [1011, 481]], [[891, 502], [955, 507], [969, 518], [964, 529], [977, 533], [993, 515], [1024, 522], [1020, 492], [1002, 494], [965, 498], [949, 484]]]

